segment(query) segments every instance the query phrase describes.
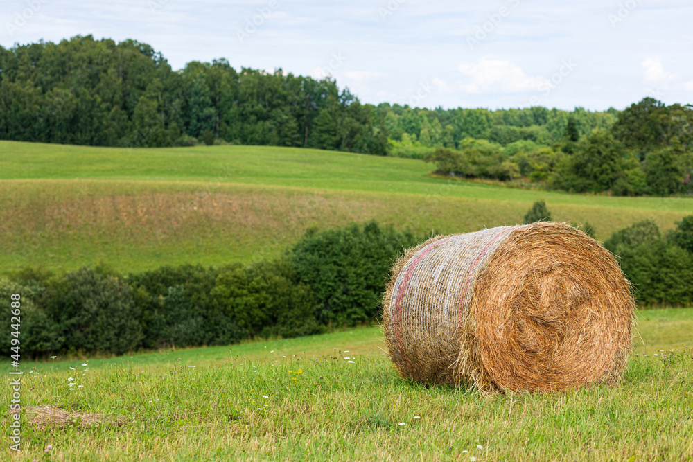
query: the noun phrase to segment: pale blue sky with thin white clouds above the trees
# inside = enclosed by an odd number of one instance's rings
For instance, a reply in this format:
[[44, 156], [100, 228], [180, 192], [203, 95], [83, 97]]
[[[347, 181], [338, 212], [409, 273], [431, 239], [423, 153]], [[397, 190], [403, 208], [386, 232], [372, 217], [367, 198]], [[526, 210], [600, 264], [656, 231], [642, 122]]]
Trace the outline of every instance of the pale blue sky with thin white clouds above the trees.
[[363, 103], [693, 103], [690, 0], [0, 0], [0, 45], [136, 39], [173, 69], [330, 75]]

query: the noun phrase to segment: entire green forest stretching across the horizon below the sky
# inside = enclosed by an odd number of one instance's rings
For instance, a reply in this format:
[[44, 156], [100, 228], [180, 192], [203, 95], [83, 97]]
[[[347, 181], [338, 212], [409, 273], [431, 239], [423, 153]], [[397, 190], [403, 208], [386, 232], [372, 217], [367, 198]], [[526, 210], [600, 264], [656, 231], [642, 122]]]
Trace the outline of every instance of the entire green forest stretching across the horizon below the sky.
[[333, 78], [175, 71], [151, 46], [77, 36], [0, 47], [0, 139], [125, 147], [277, 145], [425, 159], [436, 173], [613, 195], [693, 190], [693, 106], [624, 111], [362, 104]]

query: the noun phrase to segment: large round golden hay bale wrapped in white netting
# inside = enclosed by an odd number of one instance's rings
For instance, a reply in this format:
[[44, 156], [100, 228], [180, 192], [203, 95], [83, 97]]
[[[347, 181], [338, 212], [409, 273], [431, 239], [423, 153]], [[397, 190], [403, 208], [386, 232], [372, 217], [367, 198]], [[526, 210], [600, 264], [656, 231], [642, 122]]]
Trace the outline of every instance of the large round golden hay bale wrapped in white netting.
[[403, 377], [554, 391], [620, 379], [635, 302], [613, 256], [538, 222], [429, 239], [394, 265], [383, 301]]

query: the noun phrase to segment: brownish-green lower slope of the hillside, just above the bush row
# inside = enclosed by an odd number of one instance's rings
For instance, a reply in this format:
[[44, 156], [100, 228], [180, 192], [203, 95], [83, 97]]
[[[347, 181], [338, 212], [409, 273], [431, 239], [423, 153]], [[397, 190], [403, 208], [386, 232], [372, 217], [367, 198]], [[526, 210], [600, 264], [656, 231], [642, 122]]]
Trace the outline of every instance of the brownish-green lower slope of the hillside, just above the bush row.
[[[0, 274], [24, 266], [67, 271], [105, 262], [119, 271], [141, 271], [274, 258], [311, 226], [371, 219], [421, 236], [522, 222], [532, 202], [515, 197], [518, 190], [495, 189], [505, 199], [201, 181], [0, 181]], [[548, 206], [554, 220], [590, 222], [602, 239], [645, 219], [671, 229], [686, 215], [579, 203]]]

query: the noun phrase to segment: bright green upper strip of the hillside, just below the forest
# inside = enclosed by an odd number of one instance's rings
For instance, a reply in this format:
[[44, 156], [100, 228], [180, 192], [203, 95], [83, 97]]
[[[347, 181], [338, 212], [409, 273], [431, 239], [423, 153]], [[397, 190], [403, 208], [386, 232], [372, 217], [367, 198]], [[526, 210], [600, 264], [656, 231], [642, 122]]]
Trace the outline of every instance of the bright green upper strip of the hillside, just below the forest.
[[430, 175], [434, 168], [414, 159], [272, 146], [132, 149], [0, 141], [0, 179], [202, 181], [693, 211], [693, 199], [688, 197], [609, 197], [509, 189], [444, 181]]

